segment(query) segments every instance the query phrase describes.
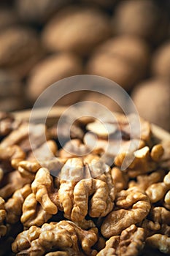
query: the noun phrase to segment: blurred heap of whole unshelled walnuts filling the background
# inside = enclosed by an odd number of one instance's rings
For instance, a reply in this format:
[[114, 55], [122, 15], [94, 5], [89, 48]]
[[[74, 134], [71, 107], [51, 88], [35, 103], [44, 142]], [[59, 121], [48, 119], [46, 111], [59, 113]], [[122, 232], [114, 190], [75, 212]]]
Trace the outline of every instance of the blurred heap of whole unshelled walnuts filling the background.
[[[99, 75], [133, 95], [148, 121], [170, 130], [166, 89], [152, 83], [158, 78], [170, 86], [169, 18], [169, 0], [1, 0], [0, 70], [7, 80], [0, 74], [1, 110], [31, 108], [63, 78]], [[112, 99], [90, 91], [58, 105], [82, 100], [121, 112]]]

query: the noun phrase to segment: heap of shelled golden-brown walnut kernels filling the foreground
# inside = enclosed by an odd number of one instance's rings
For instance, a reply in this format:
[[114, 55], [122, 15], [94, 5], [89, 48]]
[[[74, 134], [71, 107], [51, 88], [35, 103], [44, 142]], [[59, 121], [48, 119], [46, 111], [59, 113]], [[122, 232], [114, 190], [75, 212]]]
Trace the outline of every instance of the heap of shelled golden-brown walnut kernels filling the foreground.
[[[113, 138], [105, 160], [107, 135], [98, 121], [75, 122], [72, 140], [63, 127], [69, 151], [58, 145], [54, 127], [34, 124], [42, 167], [31, 151], [28, 123], [0, 113], [0, 255], [170, 254], [170, 141], [156, 138], [141, 119], [141, 138], [134, 135], [127, 152], [127, 119], [118, 115], [117, 121], [120, 153]], [[108, 123], [116, 132], [117, 124]], [[47, 143], [41, 144], [36, 133], [44, 131]], [[94, 135], [98, 143], [89, 154]], [[120, 170], [126, 154], [134, 160]]]

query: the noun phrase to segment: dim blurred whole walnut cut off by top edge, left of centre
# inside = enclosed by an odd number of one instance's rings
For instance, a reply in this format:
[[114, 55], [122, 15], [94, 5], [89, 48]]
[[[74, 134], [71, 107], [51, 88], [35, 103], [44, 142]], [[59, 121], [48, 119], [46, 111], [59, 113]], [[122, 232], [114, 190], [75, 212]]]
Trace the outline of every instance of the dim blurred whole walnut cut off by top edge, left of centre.
[[15, 8], [21, 20], [28, 23], [45, 23], [47, 18], [71, 0], [16, 0]]

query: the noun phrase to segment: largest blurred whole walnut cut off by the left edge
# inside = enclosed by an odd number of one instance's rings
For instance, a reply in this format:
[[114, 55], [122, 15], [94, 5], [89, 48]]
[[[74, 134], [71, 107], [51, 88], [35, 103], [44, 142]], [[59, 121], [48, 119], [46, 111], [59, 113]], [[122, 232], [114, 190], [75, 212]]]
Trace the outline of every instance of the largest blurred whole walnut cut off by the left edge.
[[12, 26], [0, 32], [0, 67], [18, 77], [26, 75], [42, 56], [38, 37], [32, 29]]

